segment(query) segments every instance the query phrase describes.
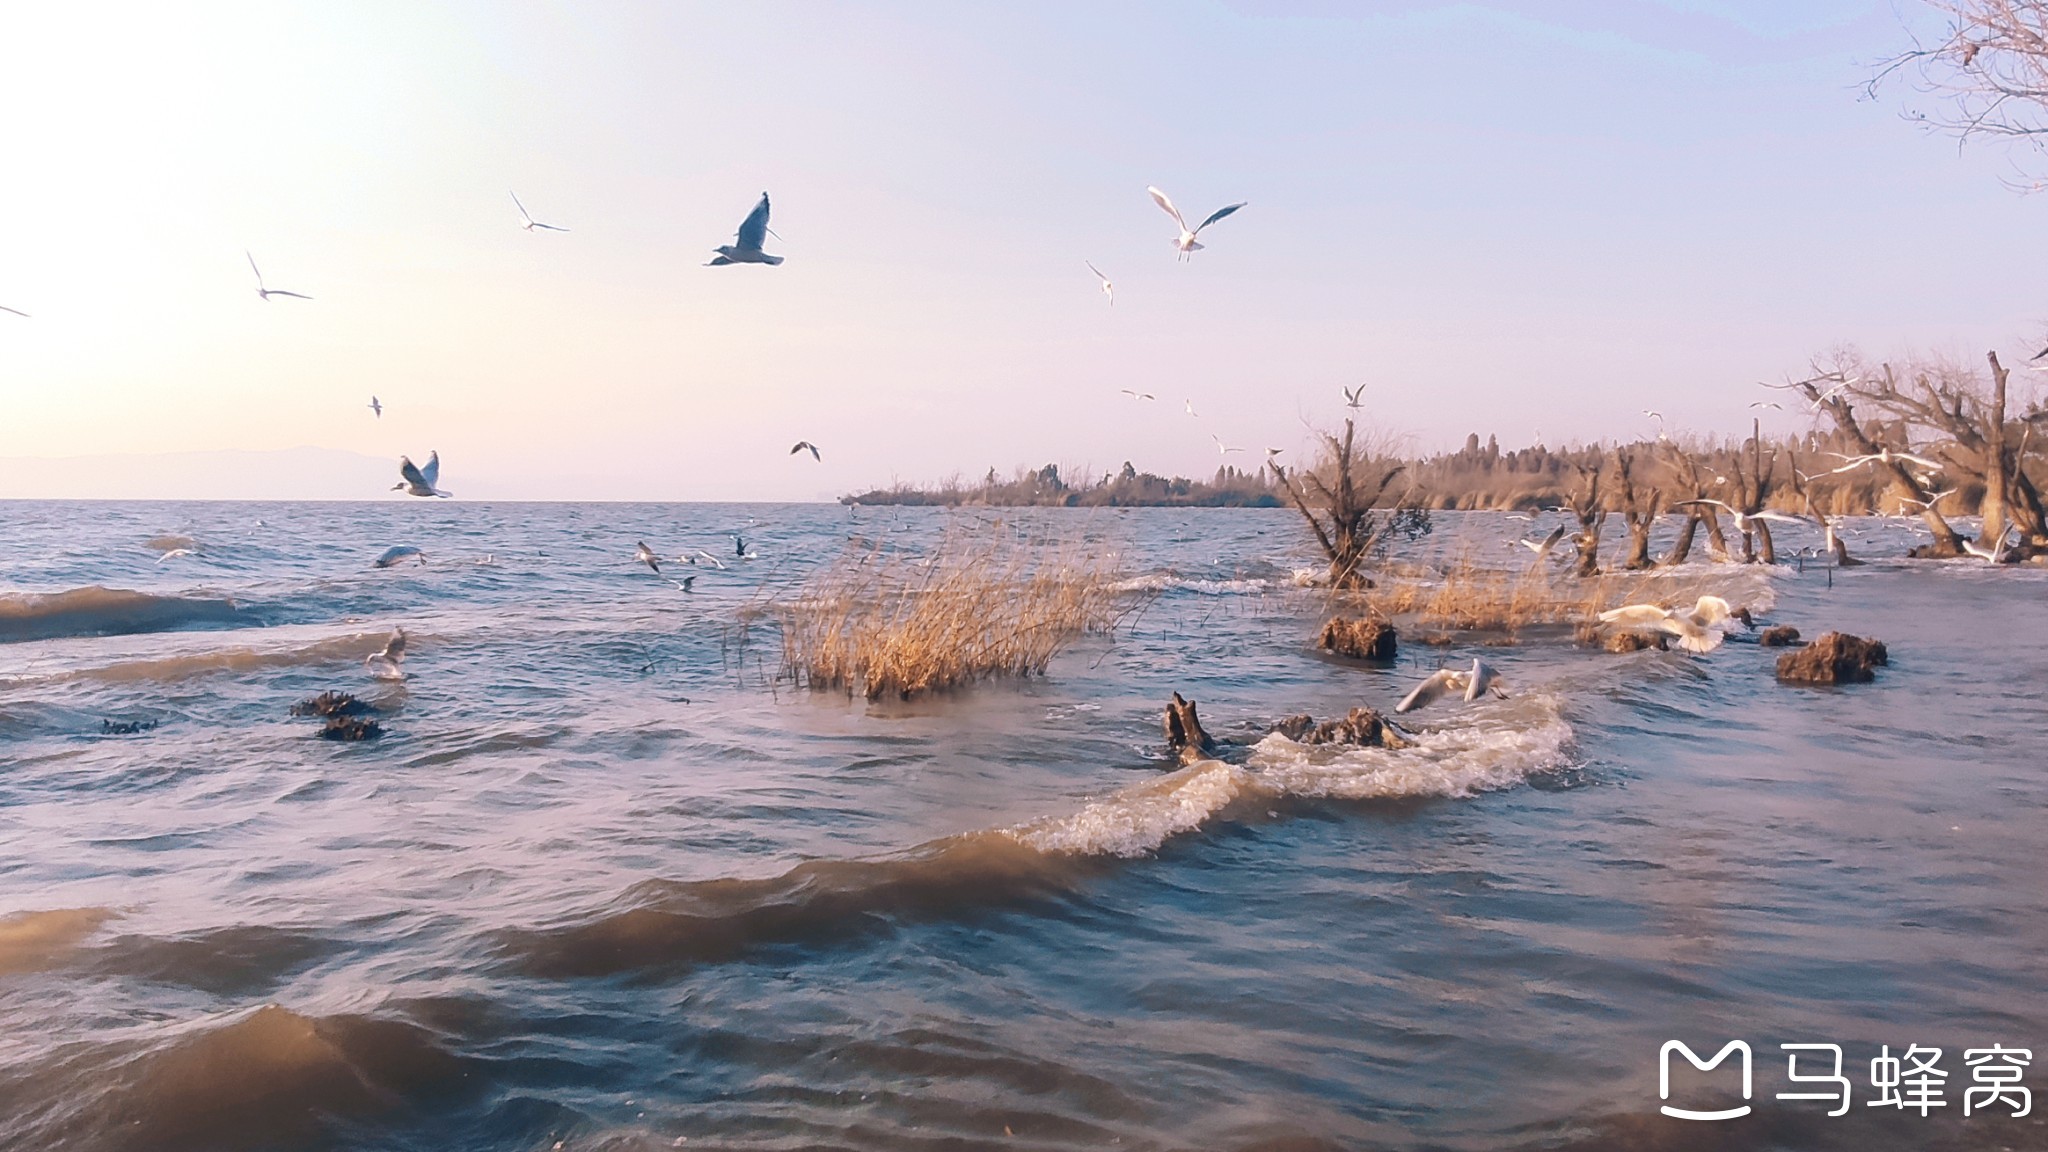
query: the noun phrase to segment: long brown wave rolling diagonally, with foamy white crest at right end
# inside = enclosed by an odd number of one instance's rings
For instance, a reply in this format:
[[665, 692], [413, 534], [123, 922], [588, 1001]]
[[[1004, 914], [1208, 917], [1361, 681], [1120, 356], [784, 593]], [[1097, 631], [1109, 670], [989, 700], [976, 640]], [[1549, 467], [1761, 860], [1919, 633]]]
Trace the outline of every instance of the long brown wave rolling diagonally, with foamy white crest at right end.
[[647, 881], [596, 918], [506, 933], [504, 943], [539, 976], [602, 976], [1059, 900], [1110, 861], [1151, 855], [1243, 804], [1458, 797], [1563, 767], [1571, 726], [1554, 701], [1518, 703], [1513, 715], [1421, 734], [1403, 750], [1329, 754], [1270, 736], [1251, 750], [1251, 767], [1200, 760], [1065, 816], [946, 836], [893, 857], [807, 861], [764, 879]]

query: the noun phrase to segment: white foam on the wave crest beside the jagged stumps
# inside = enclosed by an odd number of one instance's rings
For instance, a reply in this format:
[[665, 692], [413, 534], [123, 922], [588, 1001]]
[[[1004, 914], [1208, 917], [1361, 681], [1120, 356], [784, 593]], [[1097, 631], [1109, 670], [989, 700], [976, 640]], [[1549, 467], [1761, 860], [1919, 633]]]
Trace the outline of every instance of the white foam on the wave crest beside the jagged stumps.
[[1071, 816], [1004, 832], [1040, 853], [1143, 857], [1241, 799], [1464, 797], [1569, 765], [1571, 726], [1554, 697], [1518, 697], [1483, 713], [1417, 732], [1415, 746], [1401, 750], [1309, 746], [1274, 734], [1251, 748], [1247, 769], [1202, 760], [1092, 799]]

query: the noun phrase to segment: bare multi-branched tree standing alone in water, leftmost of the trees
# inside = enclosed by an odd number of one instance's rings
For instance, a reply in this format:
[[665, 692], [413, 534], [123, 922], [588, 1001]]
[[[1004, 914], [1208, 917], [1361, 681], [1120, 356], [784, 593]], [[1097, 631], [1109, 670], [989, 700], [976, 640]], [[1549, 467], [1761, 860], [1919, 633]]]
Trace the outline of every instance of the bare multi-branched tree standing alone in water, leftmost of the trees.
[[1382, 508], [1386, 492], [1407, 465], [1376, 455], [1358, 443], [1358, 428], [1343, 422], [1343, 437], [1317, 433], [1323, 459], [1313, 469], [1288, 471], [1268, 463], [1286, 488], [1294, 508], [1309, 521], [1315, 543], [1329, 558], [1331, 588], [1370, 588], [1366, 564], [1386, 545], [1389, 535], [1417, 537], [1430, 531], [1430, 515], [1395, 500]]

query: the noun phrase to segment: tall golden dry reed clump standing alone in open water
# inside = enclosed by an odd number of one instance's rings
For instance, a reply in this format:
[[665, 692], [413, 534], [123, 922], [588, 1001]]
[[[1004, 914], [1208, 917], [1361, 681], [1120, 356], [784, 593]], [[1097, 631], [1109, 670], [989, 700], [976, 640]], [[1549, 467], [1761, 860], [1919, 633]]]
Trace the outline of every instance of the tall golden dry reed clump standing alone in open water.
[[848, 551], [772, 605], [782, 672], [868, 699], [1044, 674], [1075, 637], [1112, 633], [1143, 607], [1147, 594], [1120, 582], [1116, 564], [1079, 545], [965, 535], [922, 558]]

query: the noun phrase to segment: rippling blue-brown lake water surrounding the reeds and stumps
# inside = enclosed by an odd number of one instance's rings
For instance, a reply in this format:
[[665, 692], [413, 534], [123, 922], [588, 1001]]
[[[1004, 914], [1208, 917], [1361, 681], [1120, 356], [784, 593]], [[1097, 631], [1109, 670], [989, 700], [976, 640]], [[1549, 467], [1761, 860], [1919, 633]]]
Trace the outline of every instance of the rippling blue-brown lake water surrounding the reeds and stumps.
[[[1157, 599], [1026, 683], [774, 683], [745, 609], [997, 519]], [[1851, 533], [1731, 572], [1890, 646], [1792, 689], [1743, 637], [1319, 656], [1286, 510], [0, 504], [0, 1148], [2044, 1148], [2048, 1101], [1962, 1103], [1964, 1050], [2048, 1064], [2048, 572]], [[1509, 699], [1417, 748], [1260, 738], [1475, 654]], [[287, 713], [324, 689], [385, 736]], [[1169, 773], [1174, 691], [1227, 765]], [[1753, 1113], [1661, 1117], [1667, 1039], [1747, 1041]], [[1880, 1045], [1946, 1105], [1870, 1107]]]

